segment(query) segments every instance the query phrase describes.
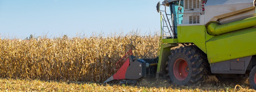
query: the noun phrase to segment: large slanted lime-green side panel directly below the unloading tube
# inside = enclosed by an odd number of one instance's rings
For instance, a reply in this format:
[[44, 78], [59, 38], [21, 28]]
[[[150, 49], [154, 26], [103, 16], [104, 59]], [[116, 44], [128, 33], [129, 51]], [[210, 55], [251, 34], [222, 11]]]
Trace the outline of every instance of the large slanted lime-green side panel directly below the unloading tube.
[[241, 29], [206, 42], [209, 63], [256, 55], [256, 27]]

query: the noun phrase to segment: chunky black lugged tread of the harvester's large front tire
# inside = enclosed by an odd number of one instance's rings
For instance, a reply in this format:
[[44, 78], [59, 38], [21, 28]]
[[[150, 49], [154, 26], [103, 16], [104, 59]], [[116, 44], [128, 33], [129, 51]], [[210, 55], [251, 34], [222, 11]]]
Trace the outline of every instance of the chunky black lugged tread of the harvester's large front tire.
[[[210, 72], [206, 54], [196, 46], [189, 45], [171, 50], [170, 56], [168, 56], [169, 60], [175, 55], [175, 53], [184, 53], [186, 56], [188, 56], [188, 59], [190, 59], [191, 61], [192, 75], [186, 85], [196, 86], [202, 83]], [[167, 64], [167, 67], [170, 67], [169, 64], [171, 64], [170, 61]], [[166, 69], [168, 71], [168, 68]], [[172, 72], [168, 71], [168, 74], [170, 73]], [[171, 82], [171, 76], [168, 76], [168, 81]]]

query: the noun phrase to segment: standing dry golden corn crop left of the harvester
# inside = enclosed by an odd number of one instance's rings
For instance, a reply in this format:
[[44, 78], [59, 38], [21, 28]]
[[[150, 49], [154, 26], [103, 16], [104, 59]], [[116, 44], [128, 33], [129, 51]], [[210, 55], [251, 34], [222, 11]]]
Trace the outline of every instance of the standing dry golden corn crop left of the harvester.
[[0, 39], [0, 77], [103, 82], [129, 48], [137, 58], [155, 58], [159, 35]]

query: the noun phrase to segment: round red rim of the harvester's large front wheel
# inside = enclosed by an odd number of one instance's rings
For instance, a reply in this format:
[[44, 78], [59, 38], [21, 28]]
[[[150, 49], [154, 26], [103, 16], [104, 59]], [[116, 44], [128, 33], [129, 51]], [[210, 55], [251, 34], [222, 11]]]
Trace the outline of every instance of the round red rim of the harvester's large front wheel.
[[188, 63], [186, 60], [180, 58], [175, 61], [173, 66], [173, 73], [176, 79], [180, 81], [186, 79], [188, 76], [188, 70]]

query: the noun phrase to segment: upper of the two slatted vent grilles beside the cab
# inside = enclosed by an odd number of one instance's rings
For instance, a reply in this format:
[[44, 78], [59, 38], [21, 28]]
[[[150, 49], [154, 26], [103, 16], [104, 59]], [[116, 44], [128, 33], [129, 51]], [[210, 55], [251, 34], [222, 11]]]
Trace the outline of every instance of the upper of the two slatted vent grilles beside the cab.
[[185, 9], [200, 8], [200, 0], [184, 0]]

